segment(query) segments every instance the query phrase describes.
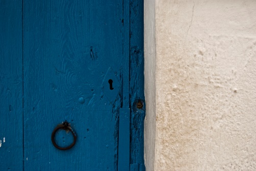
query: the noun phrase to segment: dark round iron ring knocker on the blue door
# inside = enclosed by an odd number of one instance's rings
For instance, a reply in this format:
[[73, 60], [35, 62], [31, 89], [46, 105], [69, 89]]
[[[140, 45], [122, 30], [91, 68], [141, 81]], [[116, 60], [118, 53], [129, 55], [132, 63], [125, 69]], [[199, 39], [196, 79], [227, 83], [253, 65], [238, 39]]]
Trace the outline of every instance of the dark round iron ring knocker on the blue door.
[[[60, 147], [60, 146], [58, 146], [58, 145], [56, 144], [56, 142], [55, 142], [55, 134], [56, 134], [56, 132], [57, 132], [59, 129], [64, 129], [64, 130], [66, 130], [66, 131], [70, 131], [70, 132], [73, 134], [74, 140], [73, 140], [73, 143], [72, 143], [70, 146], [68, 146], [68, 147]], [[65, 121], [65, 122], [63, 122], [61, 125], [57, 126], [57, 127], [54, 129], [53, 133], [52, 133], [52, 142], [53, 142], [54, 147], [56, 147], [57, 149], [60, 149], [60, 150], [68, 150], [68, 149], [71, 149], [71, 148], [74, 146], [75, 141], [76, 141], [76, 134], [75, 134], [74, 130], [70, 127], [70, 124], [69, 124], [67, 121]]]

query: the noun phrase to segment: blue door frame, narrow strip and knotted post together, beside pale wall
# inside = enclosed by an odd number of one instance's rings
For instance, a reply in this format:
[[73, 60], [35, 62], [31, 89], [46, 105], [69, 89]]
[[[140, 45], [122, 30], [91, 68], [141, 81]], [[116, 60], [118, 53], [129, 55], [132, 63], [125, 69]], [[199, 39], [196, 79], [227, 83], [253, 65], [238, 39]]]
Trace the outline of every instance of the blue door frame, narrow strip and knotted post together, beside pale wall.
[[[143, 171], [145, 170], [144, 2], [143, 0], [127, 0], [123, 1], [123, 7], [124, 13], [130, 14], [130, 16], [124, 16], [123, 19], [124, 27], [129, 27], [130, 31], [124, 33], [124, 37], [127, 37], [124, 41], [129, 40], [127, 43], [129, 50], [124, 50], [127, 59], [123, 60], [123, 67], [129, 68], [125, 70], [129, 73], [123, 71], [123, 79], [126, 80], [123, 82], [129, 82], [129, 84], [123, 84], [123, 105], [119, 111], [118, 153], [122, 155], [118, 155], [118, 170]], [[130, 120], [130, 128], [125, 124], [128, 120]]]

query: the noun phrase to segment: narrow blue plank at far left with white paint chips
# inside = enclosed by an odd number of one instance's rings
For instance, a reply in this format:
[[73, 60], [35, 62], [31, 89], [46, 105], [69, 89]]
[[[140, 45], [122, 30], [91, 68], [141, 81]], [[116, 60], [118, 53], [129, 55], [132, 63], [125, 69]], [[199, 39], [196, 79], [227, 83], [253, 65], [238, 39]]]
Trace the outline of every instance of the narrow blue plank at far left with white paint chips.
[[22, 1], [0, 1], [0, 170], [23, 169]]

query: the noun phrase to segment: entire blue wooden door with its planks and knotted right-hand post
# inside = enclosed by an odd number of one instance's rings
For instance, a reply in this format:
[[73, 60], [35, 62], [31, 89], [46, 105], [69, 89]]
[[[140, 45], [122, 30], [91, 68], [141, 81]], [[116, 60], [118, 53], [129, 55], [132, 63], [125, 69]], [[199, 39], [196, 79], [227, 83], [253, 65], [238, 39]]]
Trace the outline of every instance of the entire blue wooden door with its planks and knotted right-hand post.
[[1, 170], [144, 170], [142, 1], [0, 2]]

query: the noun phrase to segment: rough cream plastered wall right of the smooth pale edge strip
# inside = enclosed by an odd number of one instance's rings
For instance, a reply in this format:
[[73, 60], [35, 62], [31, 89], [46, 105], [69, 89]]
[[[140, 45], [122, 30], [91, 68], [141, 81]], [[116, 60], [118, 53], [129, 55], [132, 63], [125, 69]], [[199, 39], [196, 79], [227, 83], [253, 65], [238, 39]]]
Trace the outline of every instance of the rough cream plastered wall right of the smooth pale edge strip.
[[256, 1], [156, 1], [155, 170], [256, 170]]

